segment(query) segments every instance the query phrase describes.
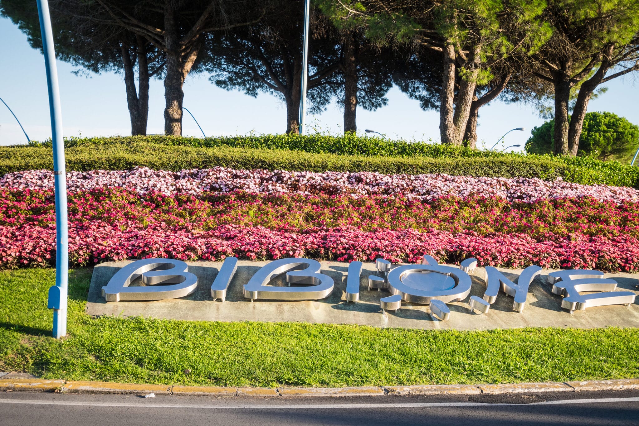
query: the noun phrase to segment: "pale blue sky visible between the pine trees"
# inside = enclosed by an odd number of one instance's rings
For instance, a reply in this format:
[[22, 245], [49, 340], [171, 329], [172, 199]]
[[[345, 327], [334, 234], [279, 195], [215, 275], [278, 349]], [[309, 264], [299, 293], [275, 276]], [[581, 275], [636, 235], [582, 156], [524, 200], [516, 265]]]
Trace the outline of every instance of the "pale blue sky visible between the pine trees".
[[[15, 112], [31, 139], [50, 137], [49, 102], [44, 59], [31, 49], [26, 36], [8, 19], [0, 18], [0, 98]], [[123, 79], [116, 73], [76, 76], [77, 67], [58, 62], [65, 136], [128, 135], [130, 121]], [[610, 82], [608, 92], [590, 102], [589, 111], [610, 111], [639, 124], [639, 82], [626, 77]], [[208, 81], [208, 75], [189, 75], [184, 86], [184, 106], [196, 116], [207, 136], [282, 133], [286, 128], [286, 106], [271, 95], [252, 98], [239, 91], [224, 91]], [[439, 141], [439, 114], [423, 111], [419, 103], [393, 88], [389, 105], [369, 112], [357, 111], [357, 126], [385, 133], [391, 138], [433, 139]], [[164, 86], [151, 81], [148, 133], [164, 132]], [[309, 123], [322, 132], [340, 133], [343, 112], [332, 104], [323, 114], [309, 116]], [[511, 132], [506, 144], [523, 144], [530, 129], [543, 123], [537, 112], [526, 104], [493, 102], [480, 110], [479, 141], [492, 146], [505, 132]], [[199, 136], [196, 123], [185, 114], [183, 134]], [[10, 112], [0, 103], [0, 144], [26, 142]], [[519, 148], [523, 149], [523, 148]], [[517, 150], [519, 150], [517, 149]], [[512, 148], [510, 149], [512, 150]]]

